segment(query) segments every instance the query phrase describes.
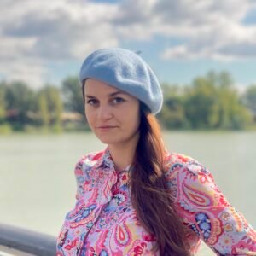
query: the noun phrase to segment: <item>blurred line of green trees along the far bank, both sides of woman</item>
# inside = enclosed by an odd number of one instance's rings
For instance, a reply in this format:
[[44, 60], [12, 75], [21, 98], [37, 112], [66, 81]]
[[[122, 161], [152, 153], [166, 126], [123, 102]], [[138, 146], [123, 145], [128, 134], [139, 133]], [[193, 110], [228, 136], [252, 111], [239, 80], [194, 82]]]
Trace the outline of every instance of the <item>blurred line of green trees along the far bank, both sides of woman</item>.
[[[256, 127], [256, 84], [243, 92], [229, 73], [209, 72], [191, 84], [161, 84], [165, 129], [243, 130]], [[0, 133], [9, 131], [84, 131], [84, 102], [77, 77], [61, 86], [32, 90], [22, 81], [0, 82]]]

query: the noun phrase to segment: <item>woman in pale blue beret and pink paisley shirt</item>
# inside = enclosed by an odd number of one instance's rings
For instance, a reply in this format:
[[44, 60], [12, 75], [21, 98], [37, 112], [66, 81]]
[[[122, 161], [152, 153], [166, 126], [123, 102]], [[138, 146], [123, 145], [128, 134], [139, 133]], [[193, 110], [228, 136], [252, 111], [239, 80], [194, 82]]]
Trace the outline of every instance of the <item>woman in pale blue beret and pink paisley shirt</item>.
[[96, 50], [80, 82], [90, 128], [108, 147], [75, 167], [77, 202], [57, 255], [192, 255], [201, 240], [218, 255], [256, 255], [255, 231], [211, 173], [166, 151], [154, 118], [160, 84], [140, 56]]

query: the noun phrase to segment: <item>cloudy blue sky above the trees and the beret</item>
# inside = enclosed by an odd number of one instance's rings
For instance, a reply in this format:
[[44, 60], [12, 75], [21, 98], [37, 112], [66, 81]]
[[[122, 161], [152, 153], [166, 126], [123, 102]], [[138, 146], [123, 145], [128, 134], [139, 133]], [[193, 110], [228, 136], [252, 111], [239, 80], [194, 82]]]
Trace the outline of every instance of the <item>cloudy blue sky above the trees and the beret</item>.
[[161, 83], [213, 70], [246, 88], [256, 84], [256, 0], [0, 2], [0, 80], [59, 86], [108, 47], [140, 50]]

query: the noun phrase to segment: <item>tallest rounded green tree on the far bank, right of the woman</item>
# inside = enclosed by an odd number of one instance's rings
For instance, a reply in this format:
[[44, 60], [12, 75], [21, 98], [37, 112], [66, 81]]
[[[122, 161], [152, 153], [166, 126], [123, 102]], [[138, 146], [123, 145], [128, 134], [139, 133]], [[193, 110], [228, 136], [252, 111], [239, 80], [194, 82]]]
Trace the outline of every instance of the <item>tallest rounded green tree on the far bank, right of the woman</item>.
[[194, 80], [185, 103], [192, 128], [244, 129], [251, 123], [233, 84], [226, 72], [210, 72]]

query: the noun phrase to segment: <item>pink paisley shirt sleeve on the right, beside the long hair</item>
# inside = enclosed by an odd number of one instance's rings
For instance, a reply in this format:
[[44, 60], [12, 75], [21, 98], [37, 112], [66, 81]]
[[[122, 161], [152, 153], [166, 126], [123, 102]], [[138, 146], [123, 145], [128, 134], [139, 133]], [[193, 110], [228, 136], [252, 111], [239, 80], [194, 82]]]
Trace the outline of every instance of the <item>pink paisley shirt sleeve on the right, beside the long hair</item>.
[[226, 200], [212, 174], [188, 159], [169, 170], [177, 211], [185, 224], [218, 255], [256, 255], [256, 233]]

